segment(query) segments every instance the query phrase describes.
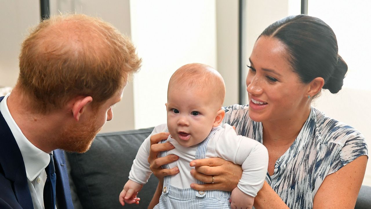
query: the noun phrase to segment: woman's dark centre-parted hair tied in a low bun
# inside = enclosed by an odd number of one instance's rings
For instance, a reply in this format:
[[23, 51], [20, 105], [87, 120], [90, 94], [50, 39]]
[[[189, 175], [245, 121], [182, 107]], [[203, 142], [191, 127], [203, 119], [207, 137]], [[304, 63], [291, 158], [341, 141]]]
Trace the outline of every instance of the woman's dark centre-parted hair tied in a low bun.
[[286, 45], [289, 61], [303, 83], [322, 77], [323, 89], [331, 93], [343, 86], [348, 65], [338, 55], [334, 31], [321, 19], [289, 16], [268, 26], [260, 36], [277, 38]]

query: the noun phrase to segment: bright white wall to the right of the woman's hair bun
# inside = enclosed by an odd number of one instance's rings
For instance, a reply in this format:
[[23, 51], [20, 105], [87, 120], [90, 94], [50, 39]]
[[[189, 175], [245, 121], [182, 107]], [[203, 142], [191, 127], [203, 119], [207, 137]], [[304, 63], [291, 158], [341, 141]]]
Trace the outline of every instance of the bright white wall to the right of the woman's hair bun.
[[[347, 9], [344, 9], [347, 8]], [[338, 94], [324, 93], [315, 105], [332, 118], [358, 129], [371, 148], [370, 58], [371, 16], [368, 0], [310, 0], [308, 15], [326, 22], [336, 35], [339, 55], [347, 62], [348, 72]], [[364, 184], [371, 186], [371, 160], [368, 160]]]

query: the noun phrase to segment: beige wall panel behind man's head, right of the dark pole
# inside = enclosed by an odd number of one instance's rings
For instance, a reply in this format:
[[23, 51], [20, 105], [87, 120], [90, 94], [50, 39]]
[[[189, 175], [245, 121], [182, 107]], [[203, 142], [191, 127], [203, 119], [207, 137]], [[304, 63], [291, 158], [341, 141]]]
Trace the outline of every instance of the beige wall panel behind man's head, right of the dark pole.
[[[93, 17], [100, 17], [111, 23], [121, 33], [130, 36], [129, 0], [50, 0], [50, 14], [76, 12]], [[101, 132], [124, 131], [134, 129], [134, 96], [132, 82], [124, 89], [122, 101], [114, 108], [114, 119], [106, 122]]]

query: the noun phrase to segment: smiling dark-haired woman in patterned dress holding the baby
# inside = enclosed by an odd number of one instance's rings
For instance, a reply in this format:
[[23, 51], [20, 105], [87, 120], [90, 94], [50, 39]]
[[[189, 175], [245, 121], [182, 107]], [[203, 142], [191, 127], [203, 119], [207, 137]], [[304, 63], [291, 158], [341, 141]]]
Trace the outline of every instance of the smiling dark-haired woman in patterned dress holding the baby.
[[[224, 123], [268, 149], [267, 178], [255, 208], [354, 208], [368, 159], [364, 136], [311, 107], [321, 89], [337, 93], [347, 72], [332, 29], [315, 17], [286, 17], [263, 31], [249, 60], [249, 105], [226, 107]], [[164, 135], [151, 140], [155, 144]], [[150, 208], [161, 194], [162, 177], [178, 172], [160, 167], [175, 156], [156, 158], [170, 148], [151, 147], [149, 161], [160, 184]], [[191, 184], [196, 190], [232, 191], [241, 176], [239, 165], [220, 158], [191, 166], [206, 183]]]

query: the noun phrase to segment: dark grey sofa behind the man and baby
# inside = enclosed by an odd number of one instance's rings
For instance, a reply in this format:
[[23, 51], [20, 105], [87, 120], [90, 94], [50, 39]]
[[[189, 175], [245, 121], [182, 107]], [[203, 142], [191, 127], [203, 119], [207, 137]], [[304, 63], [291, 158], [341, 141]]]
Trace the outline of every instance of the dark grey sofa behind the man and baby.
[[[66, 153], [75, 209], [147, 208], [158, 183], [153, 175], [138, 195], [139, 205], [122, 207], [118, 195], [139, 146], [152, 129], [98, 134], [88, 152]], [[371, 187], [362, 186], [355, 208], [371, 209]]]

